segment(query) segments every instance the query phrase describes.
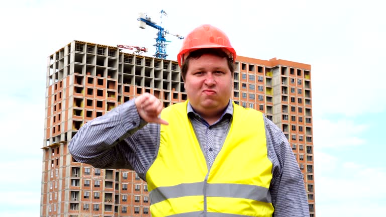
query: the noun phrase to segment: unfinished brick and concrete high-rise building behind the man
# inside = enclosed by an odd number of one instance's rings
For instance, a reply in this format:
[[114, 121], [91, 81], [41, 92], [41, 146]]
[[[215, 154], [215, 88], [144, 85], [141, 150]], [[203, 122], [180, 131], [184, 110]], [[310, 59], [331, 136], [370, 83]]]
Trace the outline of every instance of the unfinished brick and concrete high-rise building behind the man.
[[[67, 144], [83, 124], [144, 92], [164, 107], [185, 101], [178, 63], [72, 41], [47, 64], [40, 216], [150, 216], [146, 182], [135, 172], [76, 162]], [[311, 87], [308, 64], [237, 57], [232, 99], [282, 129], [315, 216]]]

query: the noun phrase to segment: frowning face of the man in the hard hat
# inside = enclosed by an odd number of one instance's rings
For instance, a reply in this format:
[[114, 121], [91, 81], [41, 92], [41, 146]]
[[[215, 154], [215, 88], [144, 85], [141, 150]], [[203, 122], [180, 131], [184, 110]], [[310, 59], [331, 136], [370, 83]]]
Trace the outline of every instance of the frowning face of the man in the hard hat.
[[221, 112], [232, 93], [232, 74], [226, 58], [204, 54], [190, 59], [185, 91], [192, 107], [203, 116]]

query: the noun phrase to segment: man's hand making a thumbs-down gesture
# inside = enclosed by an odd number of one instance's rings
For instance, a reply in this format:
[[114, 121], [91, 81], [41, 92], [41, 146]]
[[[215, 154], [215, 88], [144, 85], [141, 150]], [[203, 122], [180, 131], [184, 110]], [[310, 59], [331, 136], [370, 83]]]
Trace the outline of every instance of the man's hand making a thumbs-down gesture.
[[158, 118], [158, 115], [162, 111], [161, 101], [150, 93], [143, 93], [135, 99], [135, 106], [139, 117], [141, 117], [147, 123], [157, 123], [168, 125], [165, 120]]

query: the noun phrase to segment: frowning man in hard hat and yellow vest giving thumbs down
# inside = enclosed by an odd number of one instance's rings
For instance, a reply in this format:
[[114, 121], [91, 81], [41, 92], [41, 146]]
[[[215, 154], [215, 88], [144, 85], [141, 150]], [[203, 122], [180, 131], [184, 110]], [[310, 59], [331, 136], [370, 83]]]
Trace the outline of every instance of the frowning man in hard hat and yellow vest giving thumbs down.
[[144, 93], [116, 107], [74, 136], [74, 159], [135, 170], [152, 216], [309, 216], [283, 133], [230, 99], [236, 52], [228, 37], [200, 26], [177, 57], [187, 101], [163, 108]]

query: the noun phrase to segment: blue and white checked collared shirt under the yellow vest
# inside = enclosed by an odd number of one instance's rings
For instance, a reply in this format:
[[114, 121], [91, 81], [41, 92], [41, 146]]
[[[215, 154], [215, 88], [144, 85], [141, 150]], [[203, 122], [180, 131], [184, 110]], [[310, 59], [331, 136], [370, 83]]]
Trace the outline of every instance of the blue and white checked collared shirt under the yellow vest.
[[[187, 115], [195, 128], [206, 158], [213, 164], [220, 151], [233, 115], [232, 103], [222, 117], [209, 125], [188, 103]], [[269, 187], [274, 217], [309, 217], [303, 174], [281, 130], [265, 118], [268, 157], [272, 161]], [[96, 168], [132, 169], [145, 180], [145, 173], [157, 156], [160, 125], [146, 123], [138, 115], [134, 100], [89, 121], [71, 139], [73, 158]]]

